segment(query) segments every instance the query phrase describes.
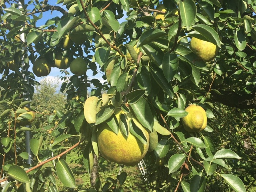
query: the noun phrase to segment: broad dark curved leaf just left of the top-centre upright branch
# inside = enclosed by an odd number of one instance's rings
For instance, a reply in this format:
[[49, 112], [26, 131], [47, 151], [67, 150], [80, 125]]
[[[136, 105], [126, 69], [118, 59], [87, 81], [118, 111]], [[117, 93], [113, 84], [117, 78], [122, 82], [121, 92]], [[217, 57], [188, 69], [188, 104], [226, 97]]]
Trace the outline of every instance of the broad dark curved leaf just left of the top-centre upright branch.
[[160, 29], [150, 29], [142, 33], [137, 42], [137, 47], [141, 47], [142, 45], [146, 45], [148, 42], [155, 41], [155, 39], [166, 35], [165, 31]]

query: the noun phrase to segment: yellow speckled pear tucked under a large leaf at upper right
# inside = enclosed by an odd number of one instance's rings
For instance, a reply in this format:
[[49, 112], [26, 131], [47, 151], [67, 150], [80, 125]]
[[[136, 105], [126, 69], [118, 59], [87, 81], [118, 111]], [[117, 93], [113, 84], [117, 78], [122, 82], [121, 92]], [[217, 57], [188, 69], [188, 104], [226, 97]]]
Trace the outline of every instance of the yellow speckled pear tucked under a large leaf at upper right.
[[204, 60], [204, 62], [209, 62], [214, 59], [219, 51], [219, 48], [211, 42], [203, 41], [195, 37], [191, 39], [189, 48], [200, 57], [200, 59]]

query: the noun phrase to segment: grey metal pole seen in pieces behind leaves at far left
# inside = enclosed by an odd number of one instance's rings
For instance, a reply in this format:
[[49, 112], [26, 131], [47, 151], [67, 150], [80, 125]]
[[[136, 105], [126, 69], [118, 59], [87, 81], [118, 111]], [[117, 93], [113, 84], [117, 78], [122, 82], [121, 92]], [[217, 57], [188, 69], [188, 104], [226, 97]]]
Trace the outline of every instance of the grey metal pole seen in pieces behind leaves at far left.
[[[18, 5], [19, 5], [18, 6], [19, 9], [23, 8], [22, 3], [20, 3], [20, 1], [18, 1]], [[22, 31], [22, 30], [23, 29], [20, 29], [20, 31]], [[20, 34], [20, 40], [25, 42], [25, 34], [24, 33]], [[22, 51], [26, 52], [25, 47], [22, 47]], [[27, 53], [25, 53], [25, 54], [27, 54]], [[24, 69], [24, 67], [25, 67], [24, 56], [22, 57], [21, 62], [22, 62], [22, 71], [28, 71], [27, 67]], [[23, 75], [23, 77], [24, 77], [25, 81], [29, 82], [28, 76]], [[27, 95], [26, 100], [30, 101], [29, 95], [27, 93], [23, 93], [23, 96], [25, 96], [25, 95]], [[27, 104], [26, 107], [30, 108], [30, 105]], [[31, 128], [31, 125], [26, 125], [26, 127]], [[30, 139], [31, 139], [31, 132], [30, 131], [25, 131], [26, 152], [29, 154], [29, 159], [27, 159], [27, 164], [32, 165], [33, 158], [32, 158], [32, 151], [30, 149]]]

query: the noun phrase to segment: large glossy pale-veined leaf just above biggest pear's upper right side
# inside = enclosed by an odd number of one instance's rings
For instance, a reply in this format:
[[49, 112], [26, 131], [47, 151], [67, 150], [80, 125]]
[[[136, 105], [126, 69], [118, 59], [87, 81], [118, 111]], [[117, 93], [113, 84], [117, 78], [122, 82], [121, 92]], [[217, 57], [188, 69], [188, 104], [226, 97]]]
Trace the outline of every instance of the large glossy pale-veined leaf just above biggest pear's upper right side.
[[146, 99], [142, 97], [139, 99], [138, 102], [130, 105], [130, 107], [139, 122], [148, 130], [152, 131], [154, 125], [154, 118]]

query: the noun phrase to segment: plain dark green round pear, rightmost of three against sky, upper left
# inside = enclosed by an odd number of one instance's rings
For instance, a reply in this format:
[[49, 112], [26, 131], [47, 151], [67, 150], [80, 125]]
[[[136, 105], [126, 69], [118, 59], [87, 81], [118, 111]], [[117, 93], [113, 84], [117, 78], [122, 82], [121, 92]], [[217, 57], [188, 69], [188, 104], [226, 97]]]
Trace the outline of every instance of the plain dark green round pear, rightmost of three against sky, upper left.
[[76, 57], [76, 59], [71, 62], [69, 69], [76, 76], [84, 75], [87, 71], [86, 61], [82, 57]]

